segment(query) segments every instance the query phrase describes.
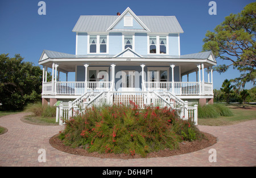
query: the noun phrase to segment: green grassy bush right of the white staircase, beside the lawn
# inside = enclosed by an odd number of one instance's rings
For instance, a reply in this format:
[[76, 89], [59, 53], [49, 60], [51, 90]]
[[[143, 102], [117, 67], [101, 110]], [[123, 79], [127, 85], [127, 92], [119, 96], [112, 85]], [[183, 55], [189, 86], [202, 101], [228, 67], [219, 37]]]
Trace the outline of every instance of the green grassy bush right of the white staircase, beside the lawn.
[[199, 118], [216, 118], [221, 116], [233, 116], [233, 113], [224, 104], [219, 103], [199, 105], [198, 107]]

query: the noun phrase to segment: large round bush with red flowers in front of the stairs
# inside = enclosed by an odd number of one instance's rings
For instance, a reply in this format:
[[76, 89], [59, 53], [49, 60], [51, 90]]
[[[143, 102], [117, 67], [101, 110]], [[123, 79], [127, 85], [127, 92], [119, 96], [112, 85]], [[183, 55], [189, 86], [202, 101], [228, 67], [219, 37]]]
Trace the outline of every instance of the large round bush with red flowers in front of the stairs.
[[181, 120], [171, 108], [139, 109], [130, 103], [86, 109], [66, 122], [59, 138], [65, 145], [84, 146], [88, 152], [146, 156], [148, 152], [176, 149], [181, 141], [202, 137], [192, 122]]

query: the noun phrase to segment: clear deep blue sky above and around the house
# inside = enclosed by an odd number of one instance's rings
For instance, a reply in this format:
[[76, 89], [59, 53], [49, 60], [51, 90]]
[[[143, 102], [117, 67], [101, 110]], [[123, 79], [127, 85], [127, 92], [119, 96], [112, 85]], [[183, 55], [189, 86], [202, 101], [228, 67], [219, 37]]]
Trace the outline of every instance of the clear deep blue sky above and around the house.
[[[217, 15], [209, 15], [210, 0], [45, 0], [46, 15], [38, 14], [39, 0], [0, 1], [0, 54], [9, 57], [20, 54], [24, 61], [39, 65], [44, 49], [75, 54], [76, 33], [72, 32], [80, 15], [116, 15], [127, 7], [136, 15], [174, 15], [184, 33], [180, 35], [181, 55], [201, 52], [207, 30], [223, 22], [225, 16], [241, 12], [243, 7], [254, 2], [249, 0], [216, 0]], [[222, 60], [217, 59], [218, 64]], [[240, 76], [230, 68], [224, 74], [213, 73], [214, 88], [219, 89], [224, 79]], [[185, 77], [187, 78], [187, 77]], [[65, 80], [65, 76], [60, 75]], [[74, 80], [69, 75], [69, 80]], [[189, 75], [195, 81], [195, 74]], [[205, 80], [207, 75], [205, 73]], [[251, 88], [251, 83], [246, 88]]]

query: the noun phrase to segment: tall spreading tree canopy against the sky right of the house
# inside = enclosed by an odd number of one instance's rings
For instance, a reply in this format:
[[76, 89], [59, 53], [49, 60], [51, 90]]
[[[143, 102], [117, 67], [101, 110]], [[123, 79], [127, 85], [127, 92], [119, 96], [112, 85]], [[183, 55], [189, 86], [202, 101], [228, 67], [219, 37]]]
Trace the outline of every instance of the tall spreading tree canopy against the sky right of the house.
[[256, 83], [256, 2], [246, 5], [238, 14], [230, 14], [224, 22], [205, 34], [203, 50], [212, 50], [214, 56], [229, 64], [218, 65], [214, 70], [224, 73], [233, 66], [241, 75], [232, 82], [245, 87], [247, 82]]

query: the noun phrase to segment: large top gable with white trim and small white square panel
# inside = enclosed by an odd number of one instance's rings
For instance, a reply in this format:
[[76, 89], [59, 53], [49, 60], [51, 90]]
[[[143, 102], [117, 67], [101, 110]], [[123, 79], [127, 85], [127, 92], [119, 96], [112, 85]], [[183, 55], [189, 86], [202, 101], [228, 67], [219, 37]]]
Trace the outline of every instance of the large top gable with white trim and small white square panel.
[[150, 31], [129, 7], [115, 20], [107, 31], [114, 29], [140, 29]]

